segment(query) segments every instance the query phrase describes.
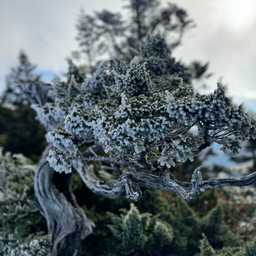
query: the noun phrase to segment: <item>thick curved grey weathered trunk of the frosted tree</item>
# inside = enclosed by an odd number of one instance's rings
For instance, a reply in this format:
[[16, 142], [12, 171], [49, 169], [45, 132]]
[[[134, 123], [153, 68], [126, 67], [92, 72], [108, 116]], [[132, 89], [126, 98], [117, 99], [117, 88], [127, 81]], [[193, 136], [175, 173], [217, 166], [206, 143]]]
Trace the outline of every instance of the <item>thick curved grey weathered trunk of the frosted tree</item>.
[[46, 156], [50, 148], [45, 149], [35, 172], [34, 190], [52, 237], [51, 256], [77, 256], [81, 241], [92, 233], [94, 223], [69, 189], [71, 174], [56, 173], [49, 166]]

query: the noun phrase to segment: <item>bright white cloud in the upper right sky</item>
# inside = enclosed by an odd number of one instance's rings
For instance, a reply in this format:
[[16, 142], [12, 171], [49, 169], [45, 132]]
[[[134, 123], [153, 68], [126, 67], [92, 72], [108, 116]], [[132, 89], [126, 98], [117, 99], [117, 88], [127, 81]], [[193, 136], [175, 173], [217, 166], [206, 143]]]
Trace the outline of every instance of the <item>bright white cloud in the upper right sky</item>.
[[184, 35], [183, 44], [174, 55], [189, 62], [209, 61], [215, 79], [228, 84], [231, 96], [256, 93], [256, 2], [253, 0], [179, 0], [197, 26]]

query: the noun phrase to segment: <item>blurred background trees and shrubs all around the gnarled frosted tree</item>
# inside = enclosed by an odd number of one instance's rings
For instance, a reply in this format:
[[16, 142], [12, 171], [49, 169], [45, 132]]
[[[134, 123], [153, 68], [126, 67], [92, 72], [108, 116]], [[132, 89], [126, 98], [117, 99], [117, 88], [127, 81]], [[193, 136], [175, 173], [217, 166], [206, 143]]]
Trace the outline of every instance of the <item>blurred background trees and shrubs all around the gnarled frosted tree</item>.
[[[87, 77], [111, 56], [129, 63], [139, 54], [149, 33], [164, 38], [173, 56], [172, 52], [186, 43], [184, 34], [196, 30], [186, 6], [157, 0], [126, 0], [123, 6], [129, 15], [109, 9], [88, 14], [86, 8], [80, 12], [77, 9], [79, 46], [66, 54]], [[47, 144], [45, 130], [20, 90], [23, 83], [44, 82], [47, 86], [48, 81], [23, 50], [5, 77], [0, 104], [0, 253], [48, 255], [51, 240], [33, 191], [33, 174]], [[189, 63], [176, 59], [174, 71], [181, 72], [184, 82], [191, 82], [196, 91], [204, 92], [215, 70], [208, 68], [208, 60], [196, 57]], [[172, 83], [177, 87], [180, 80], [173, 79]], [[159, 86], [164, 86], [164, 81]], [[228, 90], [229, 85], [226, 87]], [[255, 140], [250, 139], [243, 146], [242, 154], [235, 158], [239, 168], [231, 169], [215, 160], [206, 164], [203, 178], [253, 172]], [[214, 158], [215, 154], [212, 147], [192, 162], [176, 164], [172, 173], [181, 181], [189, 181], [194, 168], [206, 159], [221, 159]], [[234, 159], [225, 158], [225, 163], [229, 161]], [[93, 164], [100, 173], [101, 164]], [[149, 189], [136, 202], [109, 199], [92, 193], [77, 174], [72, 176], [71, 186], [77, 203], [95, 224], [93, 233], [82, 243], [81, 255], [256, 255], [254, 185], [216, 188], [188, 203], [173, 192]]]

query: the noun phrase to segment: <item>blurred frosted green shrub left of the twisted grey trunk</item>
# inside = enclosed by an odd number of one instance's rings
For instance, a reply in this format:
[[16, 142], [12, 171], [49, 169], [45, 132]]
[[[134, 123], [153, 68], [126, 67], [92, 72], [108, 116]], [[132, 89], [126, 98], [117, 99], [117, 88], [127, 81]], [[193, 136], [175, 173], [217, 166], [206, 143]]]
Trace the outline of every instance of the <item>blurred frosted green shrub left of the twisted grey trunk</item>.
[[29, 233], [46, 229], [33, 191], [35, 168], [21, 154], [0, 152], [0, 253]]

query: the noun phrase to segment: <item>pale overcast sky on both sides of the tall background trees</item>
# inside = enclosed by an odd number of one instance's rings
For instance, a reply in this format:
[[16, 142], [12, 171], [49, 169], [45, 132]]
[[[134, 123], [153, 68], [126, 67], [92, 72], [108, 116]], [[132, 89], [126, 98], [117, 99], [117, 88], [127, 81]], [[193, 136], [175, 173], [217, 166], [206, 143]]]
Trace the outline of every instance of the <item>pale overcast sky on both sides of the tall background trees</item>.
[[[162, 0], [166, 2], [166, 0]], [[173, 55], [185, 63], [209, 61], [213, 91], [219, 77], [236, 101], [256, 109], [256, 0], [173, 0], [196, 27]], [[82, 6], [87, 13], [119, 11], [123, 0], [0, 0], [0, 92], [4, 76], [17, 63], [20, 49], [44, 77], [66, 70], [65, 58], [78, 48], [75, 23]]]

